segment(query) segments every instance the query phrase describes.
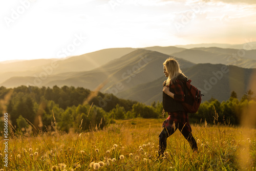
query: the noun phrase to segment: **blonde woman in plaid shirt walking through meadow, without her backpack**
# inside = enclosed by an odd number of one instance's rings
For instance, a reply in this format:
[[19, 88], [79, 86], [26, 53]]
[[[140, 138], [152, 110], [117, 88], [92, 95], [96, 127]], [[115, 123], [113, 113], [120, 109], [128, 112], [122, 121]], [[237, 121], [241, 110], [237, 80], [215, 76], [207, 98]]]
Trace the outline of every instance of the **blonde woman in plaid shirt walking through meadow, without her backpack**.
[[184, 82], [187, 77], [182, 73], [179, 63], [174, 58], [168, 58], [163, 63], [163, 73], [168, 77], [163, 82], [163, 109], [168, 113], [168, 118], [163, 122], [163, 131], [159, 135], [159, 156], [166, 149], [166, 139], [177, 129], [189, 142], [193, 151], [197, 151], [197, 142], [191, 134], [187, 112], [183, 109]]

